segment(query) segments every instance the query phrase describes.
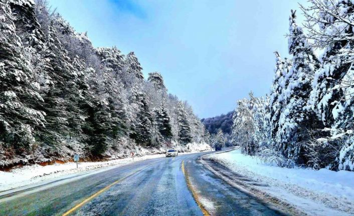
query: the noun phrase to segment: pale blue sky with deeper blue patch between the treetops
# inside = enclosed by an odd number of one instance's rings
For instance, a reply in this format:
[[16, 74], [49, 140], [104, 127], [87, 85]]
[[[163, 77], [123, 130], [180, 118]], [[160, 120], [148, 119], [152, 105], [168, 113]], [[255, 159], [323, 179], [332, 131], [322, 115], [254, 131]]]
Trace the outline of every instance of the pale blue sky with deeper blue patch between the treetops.
[[145, 78], [162, 74], [170, 93], [200, 118], [233, 110], [251, 90], [269, 92], [274, 51], [287, 54], [291, 9], [306, 0], [50, 0], [95, 47], [134, 51]]

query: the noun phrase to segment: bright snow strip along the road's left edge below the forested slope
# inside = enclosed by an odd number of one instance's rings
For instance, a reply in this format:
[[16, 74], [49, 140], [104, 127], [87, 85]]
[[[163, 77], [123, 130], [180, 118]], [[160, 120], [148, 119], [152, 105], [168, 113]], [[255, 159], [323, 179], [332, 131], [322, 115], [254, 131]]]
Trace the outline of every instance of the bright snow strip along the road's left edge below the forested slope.
[[[186, 151], [180, 154], [191, 154], [196, 152], [209, 151], [209, 145], [206, 143], [190, 143], [181, 148], [176, 146], [175, 149], [179, 151]], [[162, 152], [165, 151], [160, 149]], [[76, 168], [76, 163], [54, 163], [52, 165], [41, 166], [38, 164], [27, 165], [19, 168], [12, 169], [9, 172], [0, 171], [0, 191], [18, 188], [30, 184], [40, 183], [47, 180], [54, 180], [63, 176], [75, 173], [83, 173], [89, 170], [108, 166], [122, 166], [139, 160], [146, 160], [152, 158], [164, 157], [164, 153], [151, 154], [146, 149], [141, 148], [139, 154], [146, 154], [143, 156], [112, 159], [108, 161], [99, 162], [79, 162], [79, 168]], [[150, 154], [149, 154], [150, 153]], [[149, 155], [148, 155], [149, 154]]]

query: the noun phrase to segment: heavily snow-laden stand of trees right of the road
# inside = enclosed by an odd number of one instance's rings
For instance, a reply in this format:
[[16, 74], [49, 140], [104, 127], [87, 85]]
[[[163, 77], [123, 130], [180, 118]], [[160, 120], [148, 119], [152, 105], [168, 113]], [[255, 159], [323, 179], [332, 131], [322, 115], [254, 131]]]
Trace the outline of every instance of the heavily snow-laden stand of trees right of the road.
[[[280, 166], [354, 171], [354, 1], [310, 0], [289, 18], [270, 93], [239, 100], [233, 142]], [[316, 55], [317, 54], [317, 55]]]

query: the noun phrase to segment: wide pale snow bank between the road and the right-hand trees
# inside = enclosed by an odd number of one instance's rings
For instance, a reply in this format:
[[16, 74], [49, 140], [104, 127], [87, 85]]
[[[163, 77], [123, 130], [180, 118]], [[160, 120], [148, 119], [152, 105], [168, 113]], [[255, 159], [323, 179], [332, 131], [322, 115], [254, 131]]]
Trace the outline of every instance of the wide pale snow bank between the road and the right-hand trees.
[[354, 215], [354, 172], [283, 168], [263, 163], [240, 150], [210, 156], [246, 178], [259, 191], [309, 215]]

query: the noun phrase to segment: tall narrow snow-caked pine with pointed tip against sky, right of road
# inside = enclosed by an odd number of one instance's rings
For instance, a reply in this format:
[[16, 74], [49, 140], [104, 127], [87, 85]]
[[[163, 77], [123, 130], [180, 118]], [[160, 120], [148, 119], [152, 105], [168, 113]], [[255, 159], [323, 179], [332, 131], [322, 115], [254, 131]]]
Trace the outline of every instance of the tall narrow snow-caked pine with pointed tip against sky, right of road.
[[304, 163], [306, 161], [303, 144], [311, 139], [308, 130], [314, 119], [311, 112], [305, 112], [303, 107], [311, 92], [311, 82], [314, 70], [318, 68], [318, 61], [295, 19], [295, 11], [291, 11], [288, 49], [289, 54], [293, 56], [292, 67], [287, 74], [289, 83], [281, 92], [283, 108], [279, 117], [276, 143], [285, 157]]

